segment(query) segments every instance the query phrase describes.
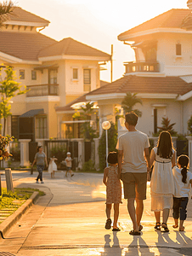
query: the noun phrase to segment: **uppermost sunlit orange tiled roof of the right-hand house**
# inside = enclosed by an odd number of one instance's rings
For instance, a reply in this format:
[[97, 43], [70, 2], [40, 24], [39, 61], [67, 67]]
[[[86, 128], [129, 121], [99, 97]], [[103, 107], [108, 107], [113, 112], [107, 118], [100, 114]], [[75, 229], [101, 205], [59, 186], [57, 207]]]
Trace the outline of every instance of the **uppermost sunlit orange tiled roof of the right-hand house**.
[[[151, 20], [147, 20], [144, 23], [133, 27], [132, 29], [128, 30], [127, 32], [123, 32], [118, 36], [118, 39], [121, 40], [121, 37], [128, 36], [135, 32], [143, 32], [150, 29], [155, 28], [166, 28], [166, 27], [175, 27], [181, 28], [182, 22], [186, 16], [191, 13], [190, 9], [170, 9], [167, 12], [156, 16]], [[123, 40], [123, 39], [122, 39]]]

